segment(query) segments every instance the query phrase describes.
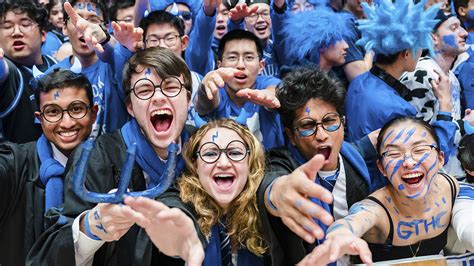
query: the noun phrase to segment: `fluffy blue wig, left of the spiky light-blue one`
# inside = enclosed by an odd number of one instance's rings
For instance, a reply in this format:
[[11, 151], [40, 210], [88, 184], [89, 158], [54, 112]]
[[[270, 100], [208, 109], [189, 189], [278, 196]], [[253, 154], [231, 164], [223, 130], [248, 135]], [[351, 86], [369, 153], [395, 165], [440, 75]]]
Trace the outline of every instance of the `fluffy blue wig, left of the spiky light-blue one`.
[[286, 36], [285, 48], [288, 54], [299, 60], [311, 60], [319, 64], [321, 49], [328, 48], [346, 38], [355, 38], [351, 29], [352, 16], [335, 13], [329, 8], [301, 12], [285, 20], [282, 32]]

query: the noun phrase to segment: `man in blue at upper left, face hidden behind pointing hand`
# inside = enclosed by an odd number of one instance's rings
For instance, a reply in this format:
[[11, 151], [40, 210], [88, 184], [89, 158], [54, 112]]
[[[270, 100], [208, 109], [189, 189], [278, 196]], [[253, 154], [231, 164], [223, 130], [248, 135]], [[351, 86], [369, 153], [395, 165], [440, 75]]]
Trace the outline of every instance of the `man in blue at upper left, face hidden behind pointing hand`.
[[69, 37], [73, 55], [51, 69], [72, 69], [86, 75], [92, 83], [94, 104], [99, 106], [93, 135], [113, 132], [128, 119], [123, 105], [124, 95], [120, 91], [120, 67], [123, 65], [119, 66], [115, 60], [117, 51], [127, 49], [115, 49], [115, 37], [118, 36], [108, 34], [106, 9], [100, 1], [69, 1], [64, 4], [64, 9], [64, 31]]

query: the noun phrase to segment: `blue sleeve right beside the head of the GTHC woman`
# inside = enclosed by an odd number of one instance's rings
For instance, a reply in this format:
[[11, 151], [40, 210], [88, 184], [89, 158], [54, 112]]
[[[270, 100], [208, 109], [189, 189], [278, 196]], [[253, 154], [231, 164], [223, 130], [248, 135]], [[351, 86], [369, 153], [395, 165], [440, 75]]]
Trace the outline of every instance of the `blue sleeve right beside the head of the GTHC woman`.
[[440, 149], [444, 152], [444, 164], [448, 163], [449, 156], [456, 152], [454, 136], [457, 126], [454, 122], [435, 120], [431, 123], [439, 138]]

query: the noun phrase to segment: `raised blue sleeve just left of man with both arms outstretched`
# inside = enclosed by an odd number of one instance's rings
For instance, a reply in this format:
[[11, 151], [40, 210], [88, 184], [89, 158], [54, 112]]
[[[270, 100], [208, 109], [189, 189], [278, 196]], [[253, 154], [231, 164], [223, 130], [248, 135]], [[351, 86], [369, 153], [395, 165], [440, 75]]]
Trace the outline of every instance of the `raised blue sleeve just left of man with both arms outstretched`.
[[216, 16], [206, 16], [204, 9], [200, 8], [194, 23], [189, 36], [189, 47], [184, 53], [189, 68], [204, 76], [215, 68], [212, 41]]

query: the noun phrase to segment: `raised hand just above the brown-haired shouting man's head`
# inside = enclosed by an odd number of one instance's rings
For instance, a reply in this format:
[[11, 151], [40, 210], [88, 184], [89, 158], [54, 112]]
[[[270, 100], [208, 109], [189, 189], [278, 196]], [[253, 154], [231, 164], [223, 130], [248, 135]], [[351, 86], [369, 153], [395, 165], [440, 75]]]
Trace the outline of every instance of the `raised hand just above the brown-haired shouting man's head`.
[[129, 22], [115, 22], [112, 21], [112, 28], [114, 29], [114, 38], [121, 45], [135, 53], [138, 49], [145, 47], [143, 43], [143, 29], [134, 27], [133, 23]]

